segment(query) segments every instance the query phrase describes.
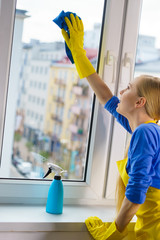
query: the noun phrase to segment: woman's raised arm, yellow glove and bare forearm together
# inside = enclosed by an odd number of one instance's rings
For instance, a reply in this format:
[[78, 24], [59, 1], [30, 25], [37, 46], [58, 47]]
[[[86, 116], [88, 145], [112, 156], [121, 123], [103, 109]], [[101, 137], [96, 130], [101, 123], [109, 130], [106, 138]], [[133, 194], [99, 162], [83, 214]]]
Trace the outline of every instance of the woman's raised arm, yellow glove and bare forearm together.
[[65, 22], [68, 26], [70, 36], [68, 36], [68, 33], [64, 29], [62, 29], [62, 35], [67, 43], [67, 46], [71, 50], [77, 72], [81, 79], [85, 77], [87, 78], [98, 100], [104, 105], [113, 96], [113, 94], [96, 73], [94, 67], [86, 56], [86, 51], [83, 48], [83, 22], [78, 18], [78, 16], [74, 17], [73, 14], [70, 14], [70, 20], [65, 18]]

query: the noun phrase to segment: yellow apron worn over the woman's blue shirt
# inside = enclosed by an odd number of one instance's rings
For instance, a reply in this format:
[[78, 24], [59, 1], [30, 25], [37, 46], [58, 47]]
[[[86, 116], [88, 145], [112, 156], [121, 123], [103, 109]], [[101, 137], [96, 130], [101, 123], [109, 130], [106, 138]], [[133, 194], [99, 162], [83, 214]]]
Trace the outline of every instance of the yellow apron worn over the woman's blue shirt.
[[[117, 161], [118, 171], [127, 186], [129, 176], [126, 172], [128, 158]], [[145, 202], [140, 206], [135, 224], [137, 240], [160, 240], [160, 189], [149, 187]]]

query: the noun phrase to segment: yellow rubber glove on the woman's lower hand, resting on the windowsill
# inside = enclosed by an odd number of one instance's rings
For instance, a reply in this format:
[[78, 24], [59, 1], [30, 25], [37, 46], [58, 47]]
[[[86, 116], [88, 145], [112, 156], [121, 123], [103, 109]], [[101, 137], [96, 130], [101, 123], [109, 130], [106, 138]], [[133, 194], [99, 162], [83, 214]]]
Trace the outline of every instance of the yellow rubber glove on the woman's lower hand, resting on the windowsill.
[[95, 240], [120, 240], [127, 235], [126, 229], [123, 232], [117, 230], [115, 221], [110, 225], [103, 223], [98, 217], [89, 217], [85, 224]]

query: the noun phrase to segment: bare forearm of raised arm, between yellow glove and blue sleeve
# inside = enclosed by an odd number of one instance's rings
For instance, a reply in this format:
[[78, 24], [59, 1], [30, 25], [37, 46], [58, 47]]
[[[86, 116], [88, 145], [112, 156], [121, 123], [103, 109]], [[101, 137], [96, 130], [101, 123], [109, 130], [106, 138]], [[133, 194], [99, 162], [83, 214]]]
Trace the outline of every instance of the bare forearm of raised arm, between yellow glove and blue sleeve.
[[113, 97], [112, 92], [97, 73], [88, 76], [87, 80], [101, 104], [106, 104]]

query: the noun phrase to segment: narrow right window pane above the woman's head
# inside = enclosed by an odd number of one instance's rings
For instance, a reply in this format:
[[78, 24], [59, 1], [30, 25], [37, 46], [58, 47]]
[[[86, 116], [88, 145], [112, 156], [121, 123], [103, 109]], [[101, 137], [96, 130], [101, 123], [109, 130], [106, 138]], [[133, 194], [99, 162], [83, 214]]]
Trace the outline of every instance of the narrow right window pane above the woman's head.
[[145, 0], [142, 5], [135, 76], [149, 74], [160, 77], [160, 1]]

